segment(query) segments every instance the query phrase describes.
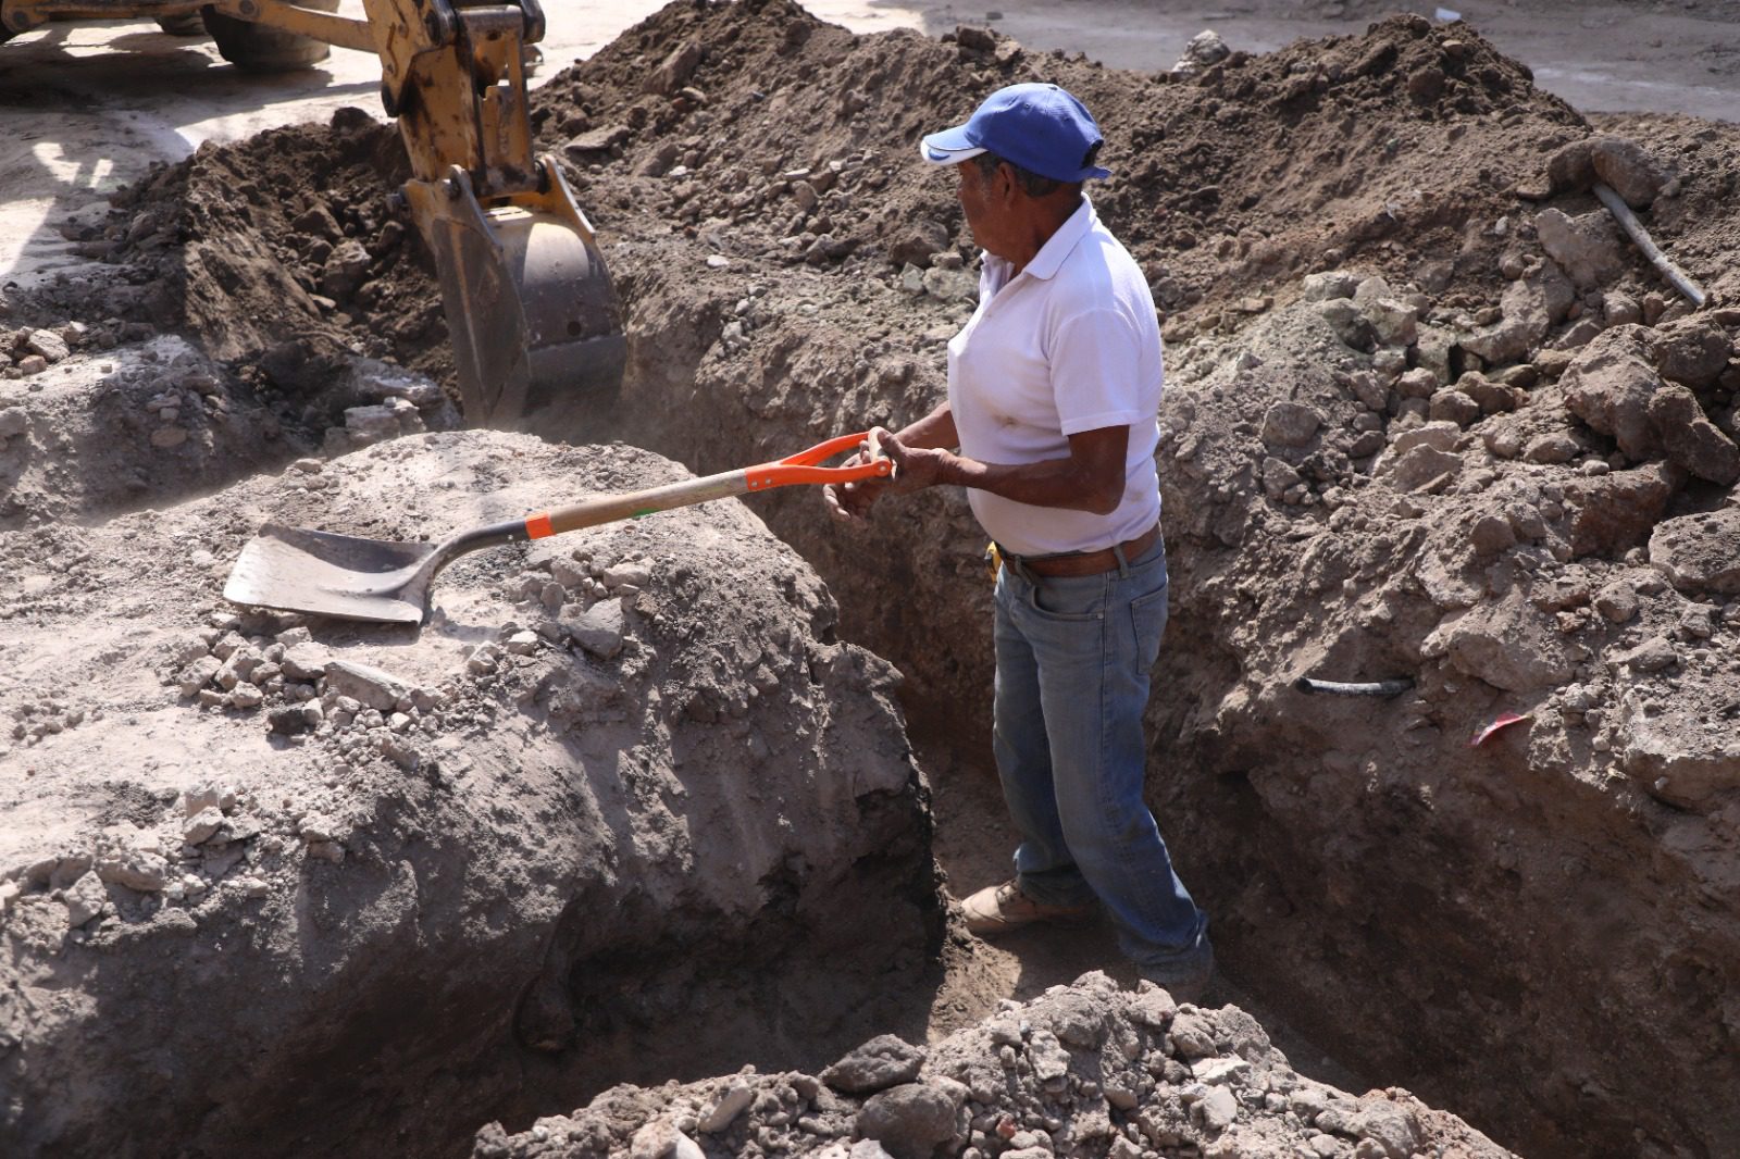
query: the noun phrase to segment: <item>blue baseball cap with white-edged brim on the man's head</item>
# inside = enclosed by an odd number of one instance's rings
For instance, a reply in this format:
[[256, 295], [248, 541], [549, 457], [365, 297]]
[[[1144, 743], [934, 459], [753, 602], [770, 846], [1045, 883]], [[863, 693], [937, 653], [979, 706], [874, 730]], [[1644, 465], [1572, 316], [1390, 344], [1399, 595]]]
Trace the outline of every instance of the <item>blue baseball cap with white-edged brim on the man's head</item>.
[[967, 124], [924, 137], [919, 153], [933, 165], [995, 153], [1041, 178], [1074, 183], [1112, 176], [1093, 164], [1100, 143], [1086, 104], [1058, 85], [1025, 84], [997, 89]]

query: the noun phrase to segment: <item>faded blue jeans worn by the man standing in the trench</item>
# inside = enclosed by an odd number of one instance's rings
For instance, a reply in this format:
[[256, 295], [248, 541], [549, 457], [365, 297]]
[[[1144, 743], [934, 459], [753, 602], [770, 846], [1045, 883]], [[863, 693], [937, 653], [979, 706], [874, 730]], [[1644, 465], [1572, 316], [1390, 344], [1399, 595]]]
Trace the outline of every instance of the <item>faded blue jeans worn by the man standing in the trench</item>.
[[994, 743], [1021, 834], [1016, 881], [1047, 905], [1098, 898], [1143, 976], [1213, 962], [1208, 915], [1141, 799], [1141, 713], [1166, 632], [1166, 546], [1098, 576], [997, 574]]

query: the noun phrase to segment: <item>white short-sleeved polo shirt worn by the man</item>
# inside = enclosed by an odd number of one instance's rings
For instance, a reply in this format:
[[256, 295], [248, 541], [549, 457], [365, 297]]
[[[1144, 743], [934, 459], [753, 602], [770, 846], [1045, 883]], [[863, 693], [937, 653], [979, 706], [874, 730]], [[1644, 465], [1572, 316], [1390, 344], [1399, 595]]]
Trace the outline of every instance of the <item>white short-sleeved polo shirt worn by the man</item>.
[[980, 305], [948, 343], [960, 452], [981, 463], [1067, 459], [1068, 437], [1129, 426], [1124, 501], [1110, 515], [1032, 506], [978, 487], [967, 501], [1016, 555], [1098, 552], [1161, 517], [1154, 466], [1164, 371], [1154, 298], [1129, 251], [1082, 205], [1027, 268], [980, 254]]

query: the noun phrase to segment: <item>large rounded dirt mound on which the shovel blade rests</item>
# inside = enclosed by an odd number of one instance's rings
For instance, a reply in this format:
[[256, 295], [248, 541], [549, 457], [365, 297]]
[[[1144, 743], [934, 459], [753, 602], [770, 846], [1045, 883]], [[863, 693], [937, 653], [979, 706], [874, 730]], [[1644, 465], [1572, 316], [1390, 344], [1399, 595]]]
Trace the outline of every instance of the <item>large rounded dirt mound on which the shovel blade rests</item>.
[[922, 1025], [886, 987], [941, 924], [893, 673], [746, 508], [473, 555], [423, 630], [218, 599], [263, 519], [445, 534], [673, 477], [423, 435], [0, 533], [7, 1154], [438, 1154]]

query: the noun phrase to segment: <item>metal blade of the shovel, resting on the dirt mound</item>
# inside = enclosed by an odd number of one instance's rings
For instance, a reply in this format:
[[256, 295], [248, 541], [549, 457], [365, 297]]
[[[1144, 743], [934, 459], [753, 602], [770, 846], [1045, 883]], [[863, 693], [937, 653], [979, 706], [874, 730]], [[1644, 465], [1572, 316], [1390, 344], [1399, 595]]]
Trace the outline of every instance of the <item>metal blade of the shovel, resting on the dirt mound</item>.
[[421, 623], [433, 543], [392, 543], [266, 524], [242, 548], [223, 595], [282, 611]]

